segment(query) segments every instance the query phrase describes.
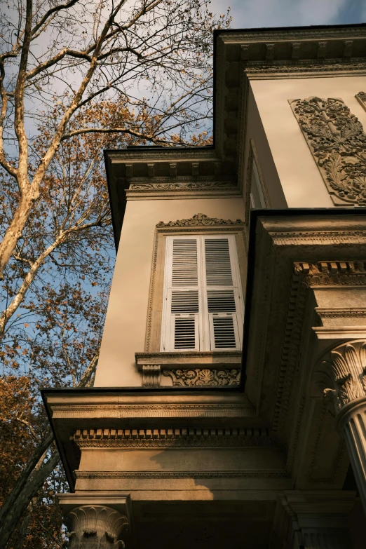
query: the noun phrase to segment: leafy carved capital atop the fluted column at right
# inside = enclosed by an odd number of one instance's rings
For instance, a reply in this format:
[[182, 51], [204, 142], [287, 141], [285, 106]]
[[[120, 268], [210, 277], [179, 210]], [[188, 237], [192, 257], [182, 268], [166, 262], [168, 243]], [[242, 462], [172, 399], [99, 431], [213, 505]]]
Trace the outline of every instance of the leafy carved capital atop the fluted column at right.
[[337, 411], [365, 397], [366, 339], [348, 341], [333, 348], [321, 361], [320, 370], [323, 392], [334, 397]]

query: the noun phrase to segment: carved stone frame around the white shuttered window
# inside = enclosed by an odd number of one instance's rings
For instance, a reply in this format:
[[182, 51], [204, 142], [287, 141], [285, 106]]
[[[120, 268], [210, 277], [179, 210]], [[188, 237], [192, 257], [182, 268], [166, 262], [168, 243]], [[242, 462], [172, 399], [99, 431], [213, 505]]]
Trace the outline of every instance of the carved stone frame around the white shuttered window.
[[[187, 220], [184, 220], [187, 221]], [[222, 223], [220, 223], [222, 222]], [[151, 280], [149, 288], [149, 304], [147, 311], [147, 330], [145, 338], [144, 351], [147, 353], [161, 352], [161, 330], [163, 317], [163, 287], [165, 273], [165, 254], [166, 254], [166, 237], [167, 236], [198, 236], [198, 235], [234, 235], [236, 241], [236, 251], [238, 258], [238, 277], [241, 283], [243, 292], [246, 283], [246, 266], [248, 255], [248, 228], [245, 222], [237, 219], [236, 222], [226, 222], [222, 219], [215, 219], [215, 223], [207, 226], [161, 226], [158, 224], [155, 230], [154, 250], [151, 266]], [[162, 268], [163, 266], [163, 268]], [[172, 352], [172, 351], [168, 351]], [[179, 354], [184, 354], [184, 351], [173, 351]], [[189, 351], [187, 351], [189, 352]], [[208, 351], [194, 351], [207, 353]], [[222, 351], [212, 351], [222, 352]]]

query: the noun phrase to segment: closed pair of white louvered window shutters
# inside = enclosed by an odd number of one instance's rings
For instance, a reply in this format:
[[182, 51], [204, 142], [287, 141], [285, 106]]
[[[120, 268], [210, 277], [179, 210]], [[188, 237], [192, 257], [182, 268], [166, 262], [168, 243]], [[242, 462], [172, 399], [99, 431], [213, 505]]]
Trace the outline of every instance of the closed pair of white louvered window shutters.
[[161, 351], [241, 348], [243, 294], [235, 235], [167, 236]]

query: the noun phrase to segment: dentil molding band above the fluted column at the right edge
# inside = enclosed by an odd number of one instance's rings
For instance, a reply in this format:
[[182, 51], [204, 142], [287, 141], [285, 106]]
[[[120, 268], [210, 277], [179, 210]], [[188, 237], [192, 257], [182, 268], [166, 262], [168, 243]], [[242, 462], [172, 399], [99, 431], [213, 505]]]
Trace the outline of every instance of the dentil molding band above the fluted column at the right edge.
[[366, 286], [366, 260], [295, 262], [294, 274], [306, 287]]

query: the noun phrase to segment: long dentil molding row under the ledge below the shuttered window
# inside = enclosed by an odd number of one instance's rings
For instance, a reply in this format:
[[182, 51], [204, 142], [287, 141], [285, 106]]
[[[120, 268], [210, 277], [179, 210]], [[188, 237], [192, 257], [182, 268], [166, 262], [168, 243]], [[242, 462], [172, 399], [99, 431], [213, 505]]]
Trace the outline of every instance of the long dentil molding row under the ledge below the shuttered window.
[[72, 440], [80, 448], [189, 448], [273, 446], [266, 428], [85, 429]]

